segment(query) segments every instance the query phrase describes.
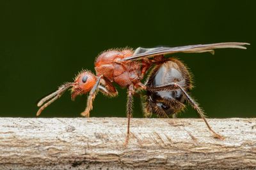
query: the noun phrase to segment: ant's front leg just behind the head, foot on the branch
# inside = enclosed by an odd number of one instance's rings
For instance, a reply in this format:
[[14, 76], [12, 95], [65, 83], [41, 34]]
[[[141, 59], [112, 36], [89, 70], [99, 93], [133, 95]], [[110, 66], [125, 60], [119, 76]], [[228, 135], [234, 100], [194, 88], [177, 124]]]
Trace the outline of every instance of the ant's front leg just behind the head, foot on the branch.
[[87, 99], [87, 104], [85, 110], [81, 113], [83, 117], [90, 117], [90, 111], [92, 110], [93, 106], [93, 100], [95, 99], [95, 96], [97, 94], [97, 90], [99, 89], [99, 84], [100, 84], [100, 78], [102, 76], [97, 77], [97, 81], [95, 85], [93, 86], [92, 90], [89, 93], [88, 99]]

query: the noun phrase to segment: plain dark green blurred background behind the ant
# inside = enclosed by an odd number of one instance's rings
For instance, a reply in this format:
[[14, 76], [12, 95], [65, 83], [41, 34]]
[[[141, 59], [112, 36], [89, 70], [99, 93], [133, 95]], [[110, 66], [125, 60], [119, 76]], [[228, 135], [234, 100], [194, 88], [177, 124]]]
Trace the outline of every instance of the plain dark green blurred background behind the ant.
[[[94, 72], [108, 48], [183, 46], [239, 41], [248, 50], [178, 53], [194, 74], [191, 92], [208, 117], [256, 117], [256, 1], [1, 1], [0, 116], [35, 117], [36, 103], [73, 81], [81, 69]], [[99, 94], [92, 117], [125, 117], [126, 90]], [[66, 92], [42, 117], [80, 117], [86, 96]], [[139, 98], [134, 117], [142, 117]], [[198, 117], [189, 106], [180, 117]]]

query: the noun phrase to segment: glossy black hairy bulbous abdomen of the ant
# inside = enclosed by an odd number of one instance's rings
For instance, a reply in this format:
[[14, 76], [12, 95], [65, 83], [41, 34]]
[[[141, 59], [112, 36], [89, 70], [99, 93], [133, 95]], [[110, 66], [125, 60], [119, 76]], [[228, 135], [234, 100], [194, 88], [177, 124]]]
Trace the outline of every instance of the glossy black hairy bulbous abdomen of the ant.
[[[177, 59], [170, 59], [157, 66], [150, 74], [148, 87], [177, 83], [186, 91], [192, 89], [191, 76], [186, 66]], [[147, 91], [146, 112], [156, 113], [159, 117], [173, 115], [184, 108], [184, 96], [180, 89], [172, 91]], [[151, 112], [151, 113], [150, 113]]]

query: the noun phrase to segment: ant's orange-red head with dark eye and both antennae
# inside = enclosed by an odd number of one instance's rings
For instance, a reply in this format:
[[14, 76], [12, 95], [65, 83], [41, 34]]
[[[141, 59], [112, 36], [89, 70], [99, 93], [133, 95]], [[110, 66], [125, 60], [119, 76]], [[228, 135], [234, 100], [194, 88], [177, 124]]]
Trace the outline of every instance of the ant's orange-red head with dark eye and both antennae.
[[71, 99], [74, 100], [77, 95], [89, 92], [96, 81], [97, 78], [93, 73], [90, 71], [82, 71], [76, 76], [74, 83], [65, 83], [61, 85], [58, 90], [41, 99], [37, 104], [38, 107], [42, 106], [45, 102], [46, 103], [37, 111], [36, 115], [40, 115], [47, 106], [60, 98], [67, 89], [70, 89], [70, 87], [72, 87]]

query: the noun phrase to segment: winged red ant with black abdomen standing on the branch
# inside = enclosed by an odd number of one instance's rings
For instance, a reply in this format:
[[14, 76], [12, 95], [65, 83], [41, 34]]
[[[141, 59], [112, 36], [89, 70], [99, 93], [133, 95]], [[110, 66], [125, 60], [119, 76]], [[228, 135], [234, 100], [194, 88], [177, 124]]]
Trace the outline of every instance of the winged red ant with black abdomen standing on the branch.
[[[157, 48], [122, 48], [116, 50], [107, 50], [100, 53], [95, 60], [95, 71], [83, 70], [79, 73], [74, 82], [64, 83], [56, 92], [41, 99], [37, 106], [40, 107], [36, 115], [40, 113], [49, 104], [61, 97], [63, 92], [71, 88], [71, 98], [89, 92], [87, 105], [81, 113], [84, 117], [90, 117], [90, 111], [93, 108], [93, 99], [99, 90], [106, 96], [117, 96], [113, 82], [122, 88], [127, 88], [127, 136], [129, 136], [130, 119], [132, 117], [132, 96], [135, 90], [147, 90], [147, 104], [145, 110], [149, 113], [156, 112], [158, 115], [176, 113], [184, 107], [184, 101], [195, 108], [200, 117], [204, 119], [209, 131], [216, 138], [221, 138], [214, 132], [204, 117], [202, 111], [194, 99], [188, 95], [188, 90], [192, 88], [190, 74], [186, 66], [172, 57], [166, 58], [164, 55], [173, 53], [214, 53], [216, 48], [241, 48], [246, 49], [244, 45], [248, 43], [213, 43], [207, 45], [189, 45], [178, 47], [157, 47]], [[143, 84], [141, 80], [151, 67], [153, 73], [149, 74], [148, 81]], [[164, 80], [160, 80], [164, 79]], [[167, 95], [167, 96], [166, 96]], [[168, 97], [170, 96], [170, 97]], [[159, 100], [160, 99], [160, 100]]]

